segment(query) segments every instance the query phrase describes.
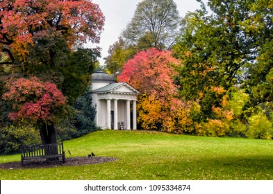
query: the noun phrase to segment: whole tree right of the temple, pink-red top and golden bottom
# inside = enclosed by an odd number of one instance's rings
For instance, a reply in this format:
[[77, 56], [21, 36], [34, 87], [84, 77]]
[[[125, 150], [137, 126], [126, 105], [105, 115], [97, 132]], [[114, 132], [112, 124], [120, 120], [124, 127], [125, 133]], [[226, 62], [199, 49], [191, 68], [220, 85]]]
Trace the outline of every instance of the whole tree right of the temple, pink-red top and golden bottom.
[[138, 122], [144, 129], [181, 132], [177, 127], [192, 124], [188, 104], [176, 98], [179, 87], [174, 84], [174, 67], [180, 64], [171, 51], [156, 48], [142, 51], [124, 64], [118, 79], [142, 93], [138, 100]]

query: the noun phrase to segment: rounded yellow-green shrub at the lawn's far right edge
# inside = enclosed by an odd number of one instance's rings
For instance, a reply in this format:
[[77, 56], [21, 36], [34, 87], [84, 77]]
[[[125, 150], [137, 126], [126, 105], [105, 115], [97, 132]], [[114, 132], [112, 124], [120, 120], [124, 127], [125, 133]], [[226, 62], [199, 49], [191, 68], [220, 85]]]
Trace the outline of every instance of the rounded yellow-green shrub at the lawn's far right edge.
[[246, 133], [248, 138], [272, 139], [272, 123], [263, 112], [249, 117], [249, 130]]

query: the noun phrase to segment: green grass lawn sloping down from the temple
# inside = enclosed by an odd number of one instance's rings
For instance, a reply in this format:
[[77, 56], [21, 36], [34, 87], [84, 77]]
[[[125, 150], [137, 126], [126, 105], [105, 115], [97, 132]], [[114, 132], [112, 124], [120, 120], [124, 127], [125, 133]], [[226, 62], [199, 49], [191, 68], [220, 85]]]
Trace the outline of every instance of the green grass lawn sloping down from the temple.
[[[67, 157], [118, 157], [105, 164], [0, 169], [0, 179], [273, 179], [273, 141], [99, 131], [65, 141]], [[1, 156], [0, 163], [19, 161]]]

